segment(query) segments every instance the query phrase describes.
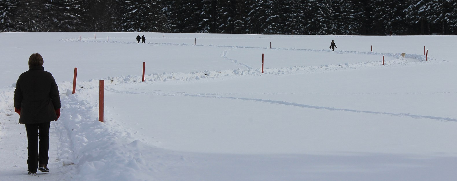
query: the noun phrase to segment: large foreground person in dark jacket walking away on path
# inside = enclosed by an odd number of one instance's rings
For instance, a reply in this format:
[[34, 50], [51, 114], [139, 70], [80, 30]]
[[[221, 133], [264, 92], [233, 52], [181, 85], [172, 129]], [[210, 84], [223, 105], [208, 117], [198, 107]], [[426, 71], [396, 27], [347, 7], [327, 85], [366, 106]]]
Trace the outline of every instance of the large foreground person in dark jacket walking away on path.
[[16, 82], [14, 112], [26, 126], [28, 174], [36, 176], [37, 169], [49, 172], [49, 126], [60, 116], [60, 96], [53, 75], [44, 71], [43, 57], [33, 53], [28, 64], [29, 70]]

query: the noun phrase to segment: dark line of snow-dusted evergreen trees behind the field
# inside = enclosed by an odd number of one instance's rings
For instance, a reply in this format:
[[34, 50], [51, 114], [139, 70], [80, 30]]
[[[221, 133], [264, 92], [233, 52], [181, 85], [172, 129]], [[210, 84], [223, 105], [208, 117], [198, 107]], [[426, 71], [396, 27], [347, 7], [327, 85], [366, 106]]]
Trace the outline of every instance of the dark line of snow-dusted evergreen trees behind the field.
[[457, 0], [0, 0], [0, 32], [457, 33]]

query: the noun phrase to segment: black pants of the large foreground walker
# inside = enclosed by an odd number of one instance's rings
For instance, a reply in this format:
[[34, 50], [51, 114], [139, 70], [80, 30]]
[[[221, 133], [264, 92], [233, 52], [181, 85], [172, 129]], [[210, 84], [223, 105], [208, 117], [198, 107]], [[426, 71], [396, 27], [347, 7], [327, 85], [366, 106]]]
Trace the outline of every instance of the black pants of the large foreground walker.
[[[26, 124], [28, 140], [28, 169], [37, 172], [38, 165], [48, 165], [49, 151], [49, 126], [51, 122], [40, 124]], [[40, 144], [38, 146], [38, 138]]]

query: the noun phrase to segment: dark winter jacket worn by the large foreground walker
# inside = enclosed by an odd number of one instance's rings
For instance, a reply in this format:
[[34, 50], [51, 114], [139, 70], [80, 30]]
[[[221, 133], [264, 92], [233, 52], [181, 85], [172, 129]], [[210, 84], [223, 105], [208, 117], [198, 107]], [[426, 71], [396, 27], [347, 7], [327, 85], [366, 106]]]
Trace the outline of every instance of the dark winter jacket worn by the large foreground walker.
[[14, 107], [21, 109], [20, 124], [37, 124], [57, 119], [60, 96], [53, 75], [44, 67], [30, 67], [17, 79]]

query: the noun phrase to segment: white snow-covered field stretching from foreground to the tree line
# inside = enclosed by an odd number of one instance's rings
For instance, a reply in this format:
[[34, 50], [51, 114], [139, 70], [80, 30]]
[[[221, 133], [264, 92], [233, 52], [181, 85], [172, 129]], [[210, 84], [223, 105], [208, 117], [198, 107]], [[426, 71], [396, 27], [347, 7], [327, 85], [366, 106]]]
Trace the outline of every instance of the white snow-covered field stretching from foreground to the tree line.
[[[0, 181], [457, 178], [457, 36], [137, 35], [0, 33]], [[13, 92], [34, 52], [62, 116], [28, 176]]]

